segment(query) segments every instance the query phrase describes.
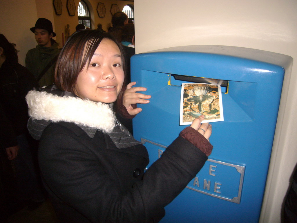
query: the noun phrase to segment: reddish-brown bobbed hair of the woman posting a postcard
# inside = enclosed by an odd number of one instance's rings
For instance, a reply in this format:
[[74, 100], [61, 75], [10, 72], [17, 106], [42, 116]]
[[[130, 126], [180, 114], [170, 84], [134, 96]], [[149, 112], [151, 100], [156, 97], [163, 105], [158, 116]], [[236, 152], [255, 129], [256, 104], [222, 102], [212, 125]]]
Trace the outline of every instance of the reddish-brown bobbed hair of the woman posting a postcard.
[[[72, 34], [59, 54], [55, 70], [55, 83], [58, 88], [74, 93], [74, 86], [78, 74], [91, 59], [103, 39], [109, 39], [116, 43], [121, 51], [122, 67], [125, 72], [124, 50], [122, 46], [109, 33], [100, 30], [79, 30]], [[126, 73], [126, 72], [125, 72]], [[126, 78], [125, 78], [126, 79]], [[118, 96], [122, 101], [125, 81]], [[122, 103], [122, 102], [121, 102]]]

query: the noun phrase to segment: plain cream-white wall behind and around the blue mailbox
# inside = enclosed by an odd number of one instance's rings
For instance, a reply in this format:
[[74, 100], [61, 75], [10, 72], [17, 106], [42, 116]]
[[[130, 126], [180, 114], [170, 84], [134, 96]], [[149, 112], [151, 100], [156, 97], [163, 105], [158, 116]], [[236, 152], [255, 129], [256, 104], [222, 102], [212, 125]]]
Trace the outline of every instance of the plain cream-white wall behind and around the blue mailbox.
[[[231, 45], [297, 58], [296, 0], [134, 0], [136, 53], [181, 45]], [[280, 222], [297, 161], [296, 61], [287, 77], [260, 222]]]

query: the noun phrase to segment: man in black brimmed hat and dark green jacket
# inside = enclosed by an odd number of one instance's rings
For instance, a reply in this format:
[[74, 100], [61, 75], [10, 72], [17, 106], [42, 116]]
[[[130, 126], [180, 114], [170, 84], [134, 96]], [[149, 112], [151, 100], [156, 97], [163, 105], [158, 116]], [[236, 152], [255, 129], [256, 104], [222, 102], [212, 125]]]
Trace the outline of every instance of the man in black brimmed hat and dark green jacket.
[[53, 84], [56, 60], [61, 51], [58, 43], [52, 39], [56, 36], [53, 25], [48, 19], [39, 18], [30, 30], [35, 34], [38, 45], [28, 51], [26, 68], [33, 73], [40, 87]]

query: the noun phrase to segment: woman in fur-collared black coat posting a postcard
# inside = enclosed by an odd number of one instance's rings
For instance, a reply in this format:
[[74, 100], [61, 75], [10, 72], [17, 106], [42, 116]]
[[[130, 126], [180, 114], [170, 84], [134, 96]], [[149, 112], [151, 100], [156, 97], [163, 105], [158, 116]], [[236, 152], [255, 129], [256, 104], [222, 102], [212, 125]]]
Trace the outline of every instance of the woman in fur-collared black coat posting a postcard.
[[142, 109], [132, 105], [151, 96], [125, 87], [124, 66], [110, 34], [82, 30], [59, 55], [56, 85], [26, 96], [42, 179], [63, 223], [157, 223], [211, 154], [211, 125], [201, 115], [145, 170], [146, 147], [116, 119], [113, 103], [123, 98], [117, 107], [136, 115]]

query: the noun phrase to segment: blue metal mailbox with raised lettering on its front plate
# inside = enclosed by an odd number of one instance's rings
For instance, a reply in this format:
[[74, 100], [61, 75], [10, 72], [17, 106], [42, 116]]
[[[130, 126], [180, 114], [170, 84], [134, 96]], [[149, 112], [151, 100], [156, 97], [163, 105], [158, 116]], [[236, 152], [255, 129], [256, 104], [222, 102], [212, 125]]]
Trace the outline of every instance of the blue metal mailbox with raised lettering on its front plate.
[[143, 111], [133, 119], [134, 137], [148, 149], [149, 166], [187, 126], [179, 125], [181, 84], [222, 88], [224, 121], [212, 123], [213, 152], [165, 207], [161, 222], [259, 221], [283, 78], [292, 62], [283, 54], [217, 45], [132, 56], [131, 80], [152, 95], [149, 104], [139, 105]]

